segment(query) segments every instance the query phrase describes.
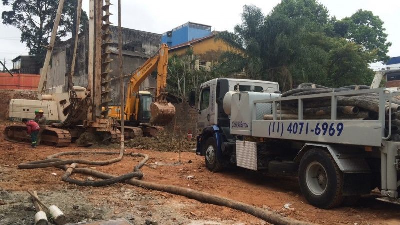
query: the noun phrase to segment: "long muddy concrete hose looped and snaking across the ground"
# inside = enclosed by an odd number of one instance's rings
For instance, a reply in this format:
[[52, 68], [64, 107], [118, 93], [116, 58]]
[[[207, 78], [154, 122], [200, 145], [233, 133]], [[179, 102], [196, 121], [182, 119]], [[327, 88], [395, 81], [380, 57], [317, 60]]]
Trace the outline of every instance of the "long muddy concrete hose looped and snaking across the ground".
[[[284, 217], [282, 215], [279, 215], [277, 213], [268, 211], [266, 209], [261, 209], [258, 207], [255, 207], [253, 205], [245, 204], [239, 201], [235, 201], [229, 198], [224, 198], [216, 195], [212, 195], [209, 193], [189, 189], [189, 188], [184, 188], [184, 187], [178, 187], [178, 186], [172, 186], [172, 185], [165, 185], [165, 184], [159, 184], [159, 183], [151, 183], [151, 182], [145, 182], [141, 181], [138, 179], [141, 179], [143, 177], [143, 173], [139, 170], [145, 162], [148, 160], [148, 155], [147, 154], [142, 154], [142, 153], [123, 153], [123, 150], [120, 152], [120, 156], [115, 159], [111, 159], [108, 161], [88, 161], [88, 160], [79, 160], [79, 159], [71, 159], [71, 160], [61, 160], [57, 159], [55, 157], [62, 156], [62, 155], [77, 155], [79, 153], [94, 153], [94, 154], [107, 154], [107, 155], [112, 155], [112, 154], [117, 154], [117, 152], [61, 152], [57, 154], [53, 154], [47, 157], [46, 160], [41, 160], [41, 161], [36, 161], [36, 162], [29, 162], [29, 163], [22, 163], [19, 164], [19, 168], [43, 168], [43, 164], [46, 165], [46, 167], [49, 167], [51, 163], [61, 163], [57, 164], [58, 168], [66, 170], [65, 174], [62, 176], [62, 180], [65, 182], [73, 183], [76, 185], [80, 186], [105, 186], [105, 185], [111, 185], [117, 182], [122, 182], [125, 181], [125, 183], [131, 184], [131, 185], [136, 185], [138, 187], [146, 188], [146, 189], [152, 189], [152, 190], [158, 190], [158, 191], [163, 191], [163, 192], [168, 192], [176, 195], [181, 195], [185, 196], [191, 199], [198, 200], [203, 203], [209, 203], [209, 204], [215, 204], [215, 205], [220, 205], [220, 206], [225, 206], [225, 207], [230, 207], [248, 214], [251, 214], [257, 218], [263, 219], [266, 222], [272, 223], [272, 224], [282, 224], [282, 225], [305, 225], [305, 224], [311, 224], [307, 222], [302, 222], [298, 221], [295, 219], [290, 219], [287, 217]], [[77, 168], [79, 162], [84, 162], [84, 164], [91, 164], [91, 165], [105, 165], [105, 164], [110, 164], [111, 161], [116, 162], [120, 161], [123, 155], [131, 155], [131, 156], [140, 156], [144, 157], [144, 159], [134, 167], [134, 171], [123, 174], [121, 176], [115, 176], [103, 172], [99, 172], [96, 170], [88, 169], [88, 168]], [[71, 162], [73, 161], [73, 162]], [[71, 165], [68, 166], [65, 163], [68, 162]], [[51, 165], [54, 166], [54, 165]], [[100, 181], [82, 181], [82, 180], [75, 180], [71, 179], [70, 176], [73, 173], [81, 173], [81, 174], [86, 174], [86, 175], [91, 175], [97, 178], [101, 178], [103, 180]], [[135, 179], [138, 178], [138, 179]]]

